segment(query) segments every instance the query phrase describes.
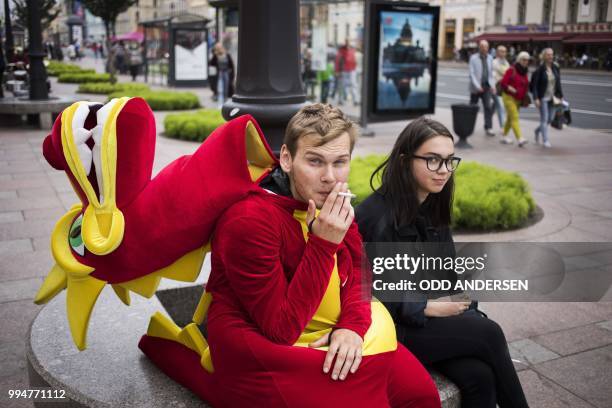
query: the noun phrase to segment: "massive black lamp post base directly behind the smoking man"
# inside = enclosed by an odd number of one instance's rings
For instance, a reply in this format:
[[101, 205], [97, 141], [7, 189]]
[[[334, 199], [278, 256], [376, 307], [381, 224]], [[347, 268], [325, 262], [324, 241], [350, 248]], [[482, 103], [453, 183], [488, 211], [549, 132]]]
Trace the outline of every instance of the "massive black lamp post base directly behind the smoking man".
[[227, 120], [251, 114], [276, 153], [289, 119], [304, 105], [298, 0], [241, 0], [236, 93]]

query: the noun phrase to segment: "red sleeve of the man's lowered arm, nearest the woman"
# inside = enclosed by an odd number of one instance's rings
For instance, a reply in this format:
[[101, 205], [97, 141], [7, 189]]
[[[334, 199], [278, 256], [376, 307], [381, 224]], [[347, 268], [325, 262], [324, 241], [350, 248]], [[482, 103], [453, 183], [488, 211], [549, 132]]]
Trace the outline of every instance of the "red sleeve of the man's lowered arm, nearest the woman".
[[[372, 323], [371, 285], [369, 284], [370, 276], [363, 275], [366, 270], [362, 269], [367, 264], [362, 265], [363, 247], [357, 223], [353, 222], [347, 231], [344, 244], [346, 247], [342, 252], [348, 252], [346, 256], [350, 256], [352, 270], [349, 271], [346, 284], [340, 291], [342, 311], [335, 327], [350, 329], [363, 338]], [[339, 252], [338, 258], [341, 255], [343, 254]]]

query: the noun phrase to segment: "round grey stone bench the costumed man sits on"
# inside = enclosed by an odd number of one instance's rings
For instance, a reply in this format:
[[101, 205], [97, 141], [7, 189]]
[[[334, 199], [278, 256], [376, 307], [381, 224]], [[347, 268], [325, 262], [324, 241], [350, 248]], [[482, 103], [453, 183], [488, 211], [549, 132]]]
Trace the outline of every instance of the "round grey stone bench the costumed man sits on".
[[[138, 348], [156, 311], [167, 313], [180, 326], [191, 322], [203, 287], [190, 285], [160, 289], [151, 299], [133, 295], [129, 307], [107, 286], [92, 313], [88, 348], [82, 352], [70, 337], [66, 296], [59, 294], [30, 326], [26, 357], [31, 386], [65, 390], [69, 401], [56, 401], [58, 407], [207, 407], [162, 373]], [[459, 407], [456, 386], [439, 374], [433, 373], [433, 377], [442, 406]], [[37, 407], [52, 404], [40, 400], [34, 403]]]

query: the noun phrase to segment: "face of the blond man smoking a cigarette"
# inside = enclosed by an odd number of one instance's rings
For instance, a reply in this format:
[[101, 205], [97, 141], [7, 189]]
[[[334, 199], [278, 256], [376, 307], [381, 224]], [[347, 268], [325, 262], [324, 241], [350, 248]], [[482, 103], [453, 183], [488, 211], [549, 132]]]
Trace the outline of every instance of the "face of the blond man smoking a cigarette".
[[351, 140], [346, 132], [322, 146], [316, 146], [318, 140], [314, 135], [299, 138], [293, 157], [283, 145], [280, 163], [289, 175], [293, 198], [304, 203], [313, 200], [320, 209], [336, 183], [348, 180]]

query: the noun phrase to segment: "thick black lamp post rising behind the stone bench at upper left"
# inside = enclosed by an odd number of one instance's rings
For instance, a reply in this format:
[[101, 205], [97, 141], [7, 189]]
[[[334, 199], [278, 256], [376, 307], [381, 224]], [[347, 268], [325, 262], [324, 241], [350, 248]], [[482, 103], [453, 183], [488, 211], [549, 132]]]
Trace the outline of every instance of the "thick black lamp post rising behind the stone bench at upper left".
[[42, 27], [38, 0], [28, 0], [28, 33], [30, 59], [30, 99], [49, 99], [47, 90], [47, 70], [43, 64], [46, 53], [42, 48]]

